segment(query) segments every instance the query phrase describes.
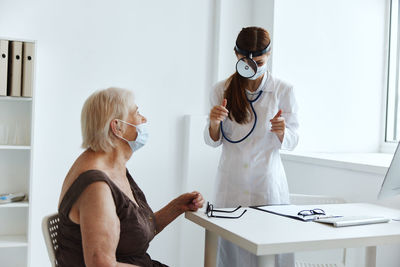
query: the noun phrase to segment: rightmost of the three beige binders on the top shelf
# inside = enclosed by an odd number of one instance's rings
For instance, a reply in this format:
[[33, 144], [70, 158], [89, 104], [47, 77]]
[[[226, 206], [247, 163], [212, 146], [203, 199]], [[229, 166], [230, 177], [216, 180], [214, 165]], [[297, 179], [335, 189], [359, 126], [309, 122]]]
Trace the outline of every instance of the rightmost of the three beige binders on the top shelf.
[[22, 96], [32, 97], [35, 44], [24, 42], [22, 50]]

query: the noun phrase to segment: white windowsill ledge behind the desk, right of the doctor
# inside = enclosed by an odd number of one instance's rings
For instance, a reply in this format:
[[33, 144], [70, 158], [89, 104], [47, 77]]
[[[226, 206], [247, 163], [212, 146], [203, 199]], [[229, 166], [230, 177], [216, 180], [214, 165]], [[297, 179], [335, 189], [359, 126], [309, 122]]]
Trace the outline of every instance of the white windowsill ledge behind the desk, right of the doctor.
[[282, 160], [385, 175], [392, 161], [389, 153], [316, 153], [280, 151]]

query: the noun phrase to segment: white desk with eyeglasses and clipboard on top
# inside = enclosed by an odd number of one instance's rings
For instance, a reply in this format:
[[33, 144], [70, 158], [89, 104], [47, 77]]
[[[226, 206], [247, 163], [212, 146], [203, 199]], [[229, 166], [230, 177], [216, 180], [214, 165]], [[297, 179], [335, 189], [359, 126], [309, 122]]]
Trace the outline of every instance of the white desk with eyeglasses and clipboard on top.
[[[344, 216], [400, 217], [400, 210], [364, 203], [310, 205], [310, 208], [316, 207]], [[204, 261], [206, 267], [216, 265], [218, 236], [260, 256], [259, 266], [273, 266], [274, 254], [367, 247], [366, 263], [368, 267], [372, 267], [376, 266], [377, 245], [400, 243], [400, 222], [397, 221], [335, 228], [327, 224], [302, 222], [251, 208], [247, 208], [247, 212], [240, 219], [208, 218], [204, 210], [186, 212], [185, 218], [206, 230]]]

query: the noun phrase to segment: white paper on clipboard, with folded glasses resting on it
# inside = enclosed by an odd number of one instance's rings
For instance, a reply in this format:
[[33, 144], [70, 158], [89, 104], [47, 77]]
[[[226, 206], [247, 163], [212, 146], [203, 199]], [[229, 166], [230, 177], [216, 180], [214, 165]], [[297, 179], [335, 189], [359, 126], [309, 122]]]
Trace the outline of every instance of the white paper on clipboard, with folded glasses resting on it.
[[272, 205], [272, 206], [255, 206], [251, 207], [253, 209], [273, 213], [276, 215], [280, 216], [285, 216], [288, 218], [300, 220], [303, 222], [312, 222], [315, 221], [316, 219], [323, 219], [323, 218], [336, 218], [336, 217], [341, 217], [333, 214], [329, 214], [325, 211], [325, 215], [298, 215], [300, 211], [303, 210], [313, 210], [313, 209], [319, 209], [318, 206], [298, 206], [298, 205]]

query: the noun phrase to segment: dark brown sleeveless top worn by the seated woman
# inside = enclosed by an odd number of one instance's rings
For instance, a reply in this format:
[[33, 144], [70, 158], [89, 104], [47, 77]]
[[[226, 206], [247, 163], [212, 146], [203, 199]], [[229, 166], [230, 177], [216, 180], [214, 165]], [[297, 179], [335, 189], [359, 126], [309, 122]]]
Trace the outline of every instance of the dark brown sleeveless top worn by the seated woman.
[[68, 215], [72, 205], [85, 188], [98, 181], [103, 181], [110, 187], [120, 220], [119, 243], [115, 252], [117, 261], [143, 267], [166, 266], [152, 260], [146, 253], [149, 243], [156, 233], [154, 213], [147, 204], [142, 190], [133, 181], [128, 170], [126, 171], [126, 176], [139, 207], [100, 170], [85, 171], [74, 181], [65, 193], [58, 209], [60, 217], [57, 237], [59, 247], [56, 251], [58, 266], [85, 266], [80, 226], [72, 222]]

